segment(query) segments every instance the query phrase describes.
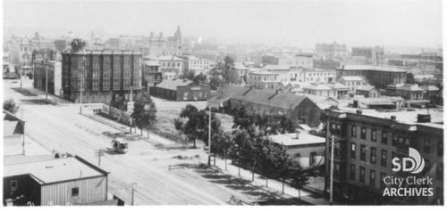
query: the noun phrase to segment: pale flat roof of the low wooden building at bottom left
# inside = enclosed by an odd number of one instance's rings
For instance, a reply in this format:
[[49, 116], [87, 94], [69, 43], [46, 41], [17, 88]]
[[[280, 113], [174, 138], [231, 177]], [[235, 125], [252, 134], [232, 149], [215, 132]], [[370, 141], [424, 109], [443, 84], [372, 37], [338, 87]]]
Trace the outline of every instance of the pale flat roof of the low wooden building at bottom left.
[[5, 165], [4, 176], [13, 175], [31, 175], [38, 183], [46, 184], [104, 174], [89, 167], [79, 159], [70, 157]]

